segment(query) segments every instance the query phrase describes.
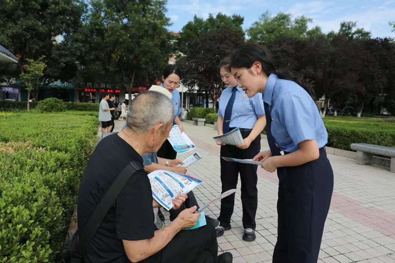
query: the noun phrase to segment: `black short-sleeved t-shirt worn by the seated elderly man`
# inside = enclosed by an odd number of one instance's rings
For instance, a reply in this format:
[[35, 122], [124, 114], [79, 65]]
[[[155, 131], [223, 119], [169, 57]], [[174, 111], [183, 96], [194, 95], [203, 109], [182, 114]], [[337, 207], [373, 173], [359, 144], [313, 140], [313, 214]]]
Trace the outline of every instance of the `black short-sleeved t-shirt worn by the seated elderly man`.
[[[116, 148], [114, 154], [110, 149]], [[131, 161], [143, 158], [117, 134], [103, 138], [89, 159], [78, 194], [78, 231], [82, 235], [94, 209], [115, 178]], [[130, 262], [122, 239], [143, 240], [157, 230], [152, 210], [152, 192], [147, 173], [138, 171], [129, 179], [90, 241], [85, 262]], [[131, 178], [132, 178], [131, 177]]]

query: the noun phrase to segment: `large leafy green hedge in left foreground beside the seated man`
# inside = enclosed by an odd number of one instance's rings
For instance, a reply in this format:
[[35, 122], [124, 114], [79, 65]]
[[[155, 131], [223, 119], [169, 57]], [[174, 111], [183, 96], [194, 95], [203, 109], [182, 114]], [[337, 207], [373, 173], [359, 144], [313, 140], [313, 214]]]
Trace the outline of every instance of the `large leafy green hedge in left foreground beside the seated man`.
[[59, 260], [97, 124], [94, 116], [0, 113], [0, 262]]

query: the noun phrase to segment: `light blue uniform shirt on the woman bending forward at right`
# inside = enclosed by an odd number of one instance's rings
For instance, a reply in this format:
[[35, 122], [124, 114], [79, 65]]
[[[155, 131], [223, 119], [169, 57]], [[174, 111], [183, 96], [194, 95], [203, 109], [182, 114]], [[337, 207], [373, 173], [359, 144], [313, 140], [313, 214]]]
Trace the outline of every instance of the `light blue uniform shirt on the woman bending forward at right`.
[[327, 144], [328, 133], [316, 103], [297, 83], [270, 74], [263, 101], [269, 104], [271, 132], [281, 150], [295, 152], [305, 140], [316, 139], [319, 148]]

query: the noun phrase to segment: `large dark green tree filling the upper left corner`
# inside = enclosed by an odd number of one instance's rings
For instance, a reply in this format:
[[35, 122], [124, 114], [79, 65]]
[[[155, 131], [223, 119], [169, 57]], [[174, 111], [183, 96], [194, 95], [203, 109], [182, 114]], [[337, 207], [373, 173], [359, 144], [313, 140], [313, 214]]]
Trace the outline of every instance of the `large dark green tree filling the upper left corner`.
[[56, 39], [73, 34], [81, 26], [86, 6], [84, 0], [3, 0], [0, 43], [20, 57], [19, 73], [26, 58], [37, 60], [44, 55], [51, 61], [59, 57], [52, 54], [58, 45]]

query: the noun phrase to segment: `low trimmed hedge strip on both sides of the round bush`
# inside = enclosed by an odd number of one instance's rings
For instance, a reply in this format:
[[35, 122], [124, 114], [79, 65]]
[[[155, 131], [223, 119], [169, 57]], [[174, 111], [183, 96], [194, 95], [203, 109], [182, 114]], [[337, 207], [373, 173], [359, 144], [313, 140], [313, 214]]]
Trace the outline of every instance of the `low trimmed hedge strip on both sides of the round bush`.
[[[40, 102], [40, 101], [39, 101]], [[30, 102], [30, 109], [34, 109], [38, 102]], [[64, 102], [66, 109], [71, 111], [97, 111], [99, 112], [99, 104], [87, 102]], [[26, 110], [26, 101], [0, 101], [0, 111], [8, 110]]]

